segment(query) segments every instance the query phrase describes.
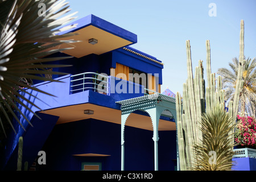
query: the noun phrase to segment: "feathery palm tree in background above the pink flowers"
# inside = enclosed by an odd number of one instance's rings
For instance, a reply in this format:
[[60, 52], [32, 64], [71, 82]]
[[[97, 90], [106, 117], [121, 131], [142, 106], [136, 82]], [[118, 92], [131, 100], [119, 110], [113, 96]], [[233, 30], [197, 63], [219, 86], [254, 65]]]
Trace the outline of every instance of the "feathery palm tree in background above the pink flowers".
[[[234, 92], [236, 90], [236, 81], [238, 73], [239, 61], [237, 57], [229, 63], [231, 70], [226, 68], [218, 69], [218, 75], [222, 76], [222, 82], [225, 90], [225, 100], [233, 101]], [[240, 91], [240, 102], [238, 110], [241, 113], [248, 113], [251, 116], [256, 116], [256, 60], [247, 59], [243, 68], [242, 79], [244, 84]]]

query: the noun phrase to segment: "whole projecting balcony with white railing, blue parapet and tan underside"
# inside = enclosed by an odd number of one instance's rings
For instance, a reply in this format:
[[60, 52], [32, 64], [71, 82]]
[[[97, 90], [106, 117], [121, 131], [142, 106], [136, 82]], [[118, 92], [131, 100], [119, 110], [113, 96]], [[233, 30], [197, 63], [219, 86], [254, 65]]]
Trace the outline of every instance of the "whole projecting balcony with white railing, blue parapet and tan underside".
[[[56, 118], [59, 117], [57, 118], [57, 123], [91, 118], [91, 115], [84, 114], [86, 108], [100, 113], [99, 115], [94, 114], [95, 117], [98, 116], [96, 119], [104, 120], [104, 118], [101, 118], [102, 112], [104, 111], [105, 119], [106, 115], [108, 115], [108, 121], [114, 120], [118, 123], [120, 106], [116, 102], [142, 97], [147, 94], [147, 91], [151, 91], [144, 88], [143, 85], [94, 72], [86, 72], [79, 75], [66, 75], [56, 78], [56, 80], [58, 82], [46, 81], [34, 85], [36, 88], [56, 97], [30, 89], [27, 90], [28, 93], [24, 94], [24, 97], [34, 102], [34, 104], [40, 108], [31, 106], [30, 109], [34, 113], [45, 114], [46, 117], [48, 117], [48, 115], [56, 116]], [[151, 92], [156, 93], [154, 91]], [[31, 94], [34, 94], [38, 99], [31, 97]], [[154, 95], [152, 96], [154, 97]], [[175, 102], [175, 98], [168, 98]], [[26, 101], [23, 101], [23, 103], [27, 104]], [[28, 111], [26, 107], [20, 107], [20, 110], [25, 113], [28, 120], [35, 125], [37, 118], [34, 117], [34, 114]], [[116, 119], [113, 119], [113, 114], [109, 114], [110, 111], [115, 112], [117, 116]], [[170, 115], [170, 113], [164, 115]], [[28, 127], [26, 119], [21, 119], [24, 127]], [[162, 119], [172, 121], [170, 118], [163, 116]], [[136, 117], [134, 121], [136, 121]], [[23, 130], [19, 127], [20, 126], [17, 125], [17, 130], [23, 133]]]

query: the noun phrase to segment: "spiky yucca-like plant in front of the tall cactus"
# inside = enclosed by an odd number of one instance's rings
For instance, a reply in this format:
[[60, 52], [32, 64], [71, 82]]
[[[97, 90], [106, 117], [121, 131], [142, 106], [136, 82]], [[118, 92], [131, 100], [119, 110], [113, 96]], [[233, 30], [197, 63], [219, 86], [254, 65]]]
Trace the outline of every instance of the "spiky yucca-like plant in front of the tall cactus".
[[217, 105], [201, 118], [203, 141], [193, 146], [196, 160], [192, 170], [196, 171], [230, 171], [232, 169], [233, 147], [236, 143], [228, 134], [234, 131], [232, 118]]

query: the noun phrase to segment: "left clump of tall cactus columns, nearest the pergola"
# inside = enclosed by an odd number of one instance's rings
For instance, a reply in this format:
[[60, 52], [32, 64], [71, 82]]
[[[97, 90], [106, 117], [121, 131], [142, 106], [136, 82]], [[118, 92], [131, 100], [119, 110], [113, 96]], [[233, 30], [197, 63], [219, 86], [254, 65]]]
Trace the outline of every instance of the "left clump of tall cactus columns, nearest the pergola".
[[[176, 94], [177, 130], [179, 142], [180, 169], [188, 170], [195, 161], [195, 154], [191, 152], [194, 143], [202, 141], [200, 128], [201, 114], [205, 112], [205, 81], [203, 61], [199, 60], [193, 78], [191, 46], [189, 40], [187, 47], [187, 82], [183, 84], [183, 101], [181, 111], [181, 96]], [[185, 133], [185, 135], [183, 135]]]

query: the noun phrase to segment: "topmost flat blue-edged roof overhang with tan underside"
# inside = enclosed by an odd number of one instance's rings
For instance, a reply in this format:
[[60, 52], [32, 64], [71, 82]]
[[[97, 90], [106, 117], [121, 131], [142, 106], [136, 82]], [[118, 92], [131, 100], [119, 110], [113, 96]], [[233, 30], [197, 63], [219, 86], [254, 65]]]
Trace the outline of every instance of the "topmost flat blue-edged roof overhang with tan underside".
[[[78, 35], [58, 40], [73, 39], [79, 40], [80, 42], [72, 44], [63, 43], [57, 48], [73, 47], [73, 49], [68, 49], [63, 52], [77, 58], [90, 55], [92, 53], [101, 55], [102, 53], [137, 43], [137, 35], [94, 15], [85, 16], [84, 18], [76, 20], [70, 24], [77, 24], [77, 26], [72, 30], [61, 32], [60, 35], [69, 32], [73, 32]], [[89, 39], [92, 38], [97, 39], [98, 43], [94, 45], [90, 44]]]

